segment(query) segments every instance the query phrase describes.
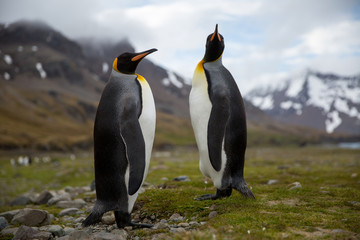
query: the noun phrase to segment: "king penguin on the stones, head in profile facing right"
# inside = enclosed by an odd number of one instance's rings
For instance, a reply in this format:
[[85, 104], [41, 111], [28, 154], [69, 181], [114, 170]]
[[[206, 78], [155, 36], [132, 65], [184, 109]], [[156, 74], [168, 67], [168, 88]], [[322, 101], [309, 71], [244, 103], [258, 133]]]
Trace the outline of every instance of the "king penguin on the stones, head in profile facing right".
[[94, 124], [96, 203], [83, 226], [108, 211], [114, 211], [119, 228], [152, 226], [131, 222], [131, 211], [148, 173], [156, 121], [150, 86], [135, 70], [155, 51], [123, 53], [113, 62]]

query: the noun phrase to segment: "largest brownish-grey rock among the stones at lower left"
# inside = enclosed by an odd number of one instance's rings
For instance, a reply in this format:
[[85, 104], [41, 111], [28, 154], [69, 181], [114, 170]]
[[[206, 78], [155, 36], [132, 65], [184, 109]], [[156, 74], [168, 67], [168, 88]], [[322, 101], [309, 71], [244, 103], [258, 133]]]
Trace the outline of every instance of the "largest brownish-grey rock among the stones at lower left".
[[50, 215], [47, 211], [24, 208], [11, 220], [11, 224], [23, 224], [29, 227], [49, 225]]

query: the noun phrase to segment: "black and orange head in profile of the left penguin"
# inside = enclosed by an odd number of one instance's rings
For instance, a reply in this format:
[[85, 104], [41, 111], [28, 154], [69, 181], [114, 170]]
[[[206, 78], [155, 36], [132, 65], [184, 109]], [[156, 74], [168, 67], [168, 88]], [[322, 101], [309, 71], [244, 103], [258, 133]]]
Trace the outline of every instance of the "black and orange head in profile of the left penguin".
[[114, 70], [125, 73], [125, 74], [135, 74], [135, 70], [139, 62], [149, 55], [150, 53], [156, 52], [156, 48], [150, 50], [139, 52], [139, 53], [128, 53], [125, 52], [115, 58], [113, 62]]

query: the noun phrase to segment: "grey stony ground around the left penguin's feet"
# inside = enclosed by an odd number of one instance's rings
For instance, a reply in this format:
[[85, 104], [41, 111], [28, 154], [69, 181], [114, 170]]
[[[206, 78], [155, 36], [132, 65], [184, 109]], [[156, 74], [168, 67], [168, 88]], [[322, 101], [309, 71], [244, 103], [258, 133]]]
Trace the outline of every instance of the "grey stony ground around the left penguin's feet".
[[[180, 176], [175, 181], [188, 181]], [[153, 186], [146, 185], [146, 188]], [[145, 191], [142, 188], [141, 191]], [[95, 202], [95, 191], [91, 187], [66, 187], [58, 191], [43, 191], [19, 196], [9, 203], [19, 206], [16, 210], [0, 213], [1, 239], [140, 239], [137, 232], [153, 231], [153, 239], [165, 237], [164, 232], [181, 234], [196, 230], [206, 222], [196, 219], [185, 220], [184, 216], [174, 213], [169, 219], [157, 219], [155, 215], [142, 217], [139, 204], [135, 204], [132, 219], [140, 223], [153, 224], [149, 229], [125, 227], [119, 229], [115, 223], [113, 212], [107, 212], [101, 223], [90, 227], [82, 227], [82, 221], [88, 216]], [[25, 206], [25, 207], [24, 207]], [[41, 206], [53, 207], [57, 214], [41, 210]], [[214, 207], [213, 207], [214, 208]], [[209, 218], [217, 215], [216, 211]], [[166, 237], [165, 237], [166, 238]]]

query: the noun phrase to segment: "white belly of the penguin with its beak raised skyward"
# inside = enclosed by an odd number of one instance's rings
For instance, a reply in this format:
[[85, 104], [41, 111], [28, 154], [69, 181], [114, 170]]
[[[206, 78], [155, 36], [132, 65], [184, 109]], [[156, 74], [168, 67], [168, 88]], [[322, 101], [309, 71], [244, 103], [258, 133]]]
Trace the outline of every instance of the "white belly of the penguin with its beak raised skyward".
[[[196, 143], [199, 149], [200, 171], [204, 176], [210, 177], [216, 188], [221, 188], [221, 180], [226, 164], [226, 155], [222, 151], [221, 169], [217, 172], [211, 165], [208, 151], [208, 123], [212, 104], [208, 94], [208, 84], [205, 73], [198, 68], [195, 70], [193, 85], [190, 92], [190, 116], [194, 129]], [[224, 149], [222, 147], [222, 149]]]

